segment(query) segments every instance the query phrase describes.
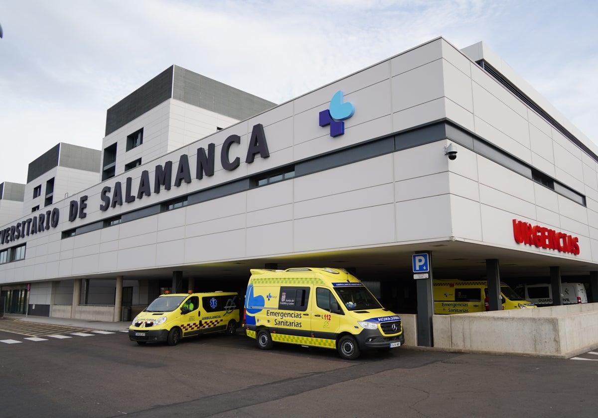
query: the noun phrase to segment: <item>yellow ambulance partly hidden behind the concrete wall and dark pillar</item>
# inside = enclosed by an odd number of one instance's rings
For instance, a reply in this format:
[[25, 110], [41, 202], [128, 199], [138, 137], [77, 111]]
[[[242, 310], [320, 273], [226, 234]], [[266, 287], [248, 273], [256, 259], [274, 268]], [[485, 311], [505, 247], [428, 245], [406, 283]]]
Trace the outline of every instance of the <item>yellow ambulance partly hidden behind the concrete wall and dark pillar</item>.
[[[434, 314], [467, 314], [485, 312], [488, 282], [459, 279], [434, 279]], [[501, 282], [502, 309], [536, 308], [524, 300], [509, 285]]]

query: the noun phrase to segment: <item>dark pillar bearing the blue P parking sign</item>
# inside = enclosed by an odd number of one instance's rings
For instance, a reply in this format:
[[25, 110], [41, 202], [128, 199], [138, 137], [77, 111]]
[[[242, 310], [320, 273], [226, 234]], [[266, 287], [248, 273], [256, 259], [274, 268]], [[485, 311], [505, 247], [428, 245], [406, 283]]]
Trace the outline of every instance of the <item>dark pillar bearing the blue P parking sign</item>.
[[417, 345], [432, 347], [432, 252], [417, 251], [412, 262], [413, 278], [417, 281]]

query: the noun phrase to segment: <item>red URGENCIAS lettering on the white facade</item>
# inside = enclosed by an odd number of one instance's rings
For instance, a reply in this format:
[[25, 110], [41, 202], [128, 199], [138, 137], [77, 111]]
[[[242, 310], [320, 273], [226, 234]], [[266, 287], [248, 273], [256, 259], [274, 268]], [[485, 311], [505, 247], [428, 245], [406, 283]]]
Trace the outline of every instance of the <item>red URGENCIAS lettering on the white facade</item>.
[[513, 219], [513, 236], [518, 244], [535, 245], [561, 253], [579, 254], [579, 238], [544, 226]]

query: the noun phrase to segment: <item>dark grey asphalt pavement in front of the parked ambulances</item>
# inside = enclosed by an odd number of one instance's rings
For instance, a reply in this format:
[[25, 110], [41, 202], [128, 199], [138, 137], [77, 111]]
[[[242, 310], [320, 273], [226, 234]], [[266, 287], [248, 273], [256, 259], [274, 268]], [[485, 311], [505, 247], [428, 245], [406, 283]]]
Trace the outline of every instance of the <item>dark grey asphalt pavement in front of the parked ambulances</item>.
[[[593, 417], [598, 361], [398, 348], [335, 351], [213, 334], [138, 346], [126, 333], [0, 331], [0, 416]], [[23, 331], [22, 331], [23, 332]], [[79, 336], [77, 334], [89, 334]], [[38, 338], [38, 337], [33, 337]]]

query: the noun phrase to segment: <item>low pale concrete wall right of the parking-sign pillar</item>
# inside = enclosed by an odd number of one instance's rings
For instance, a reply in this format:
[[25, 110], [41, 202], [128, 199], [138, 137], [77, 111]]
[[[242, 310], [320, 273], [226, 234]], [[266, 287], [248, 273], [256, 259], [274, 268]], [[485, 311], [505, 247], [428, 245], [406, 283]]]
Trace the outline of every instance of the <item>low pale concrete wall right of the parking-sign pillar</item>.
[[434, 347], [570, 357], [598, 347], [598, 303], [434, 315]]

